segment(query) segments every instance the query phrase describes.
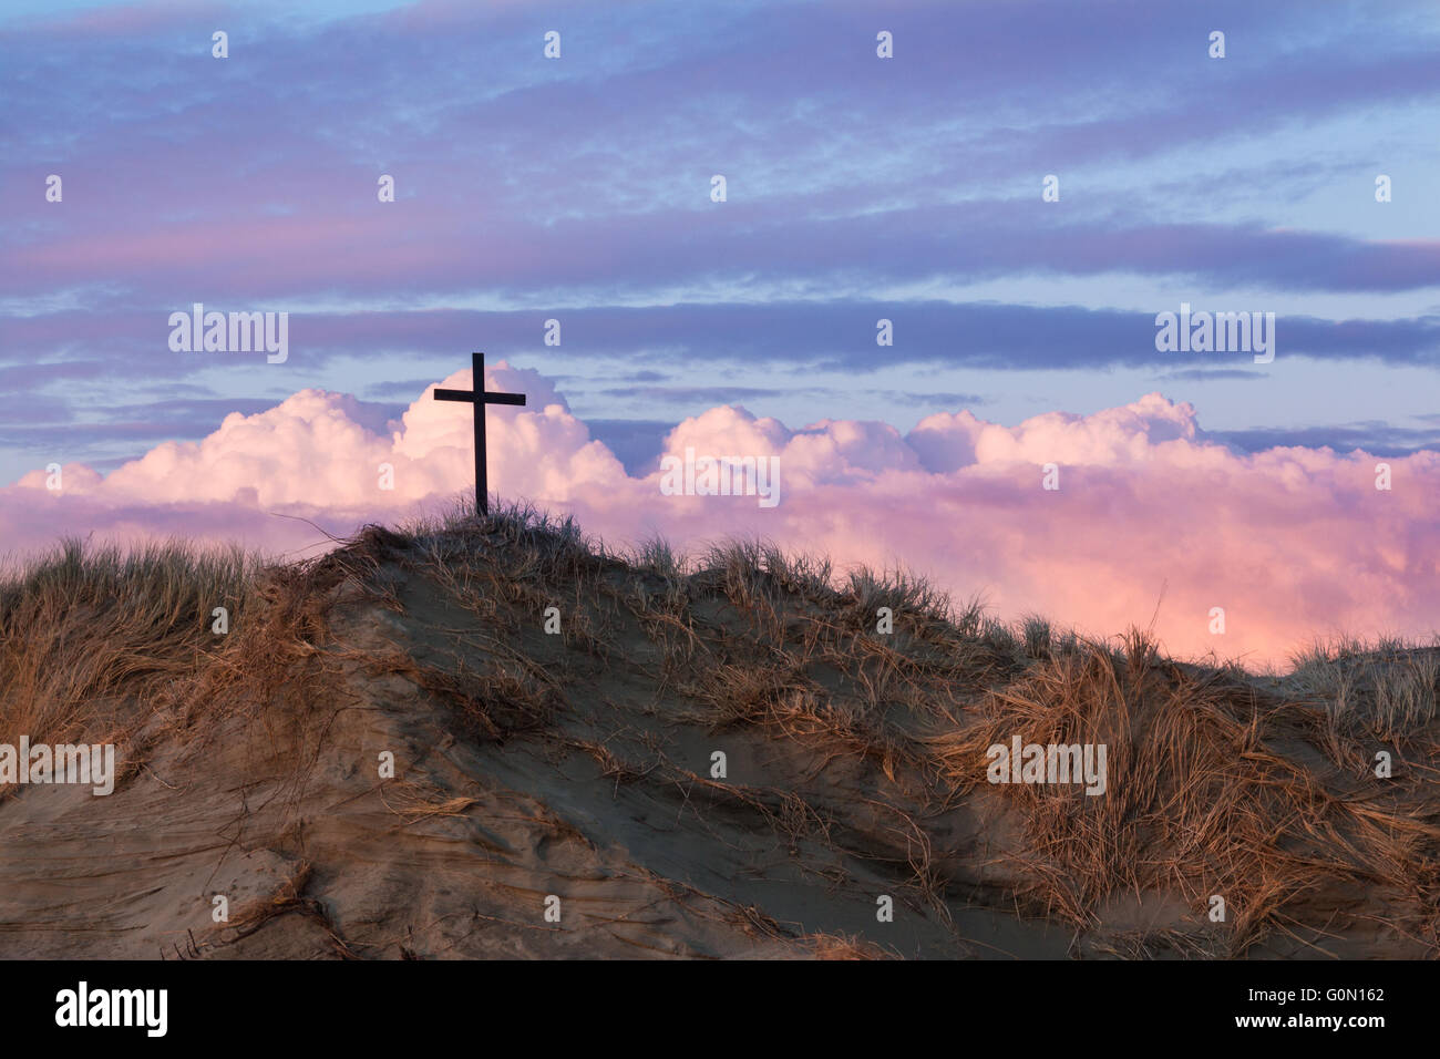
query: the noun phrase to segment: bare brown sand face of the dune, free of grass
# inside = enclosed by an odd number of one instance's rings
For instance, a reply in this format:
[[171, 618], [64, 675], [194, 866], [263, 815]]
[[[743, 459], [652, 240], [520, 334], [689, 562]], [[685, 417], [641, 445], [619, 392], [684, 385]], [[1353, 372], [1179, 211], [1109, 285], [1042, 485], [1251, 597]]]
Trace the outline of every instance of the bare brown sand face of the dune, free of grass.
[[[1027, 803], [985, 782], [979, 755], [973, 781], [955, 784], [939, 782], [940, 758], [926, 765], [912, 752], [929, 730], [916, 696], [949, 687], [945, 709], [979, 723], [984, 703], [998, 709], [988, 684], [1018, 679], [1001, 663], [973, 679], [936, 664], [903, 694], [899, 684], [863, 692], [867, 671], [907, 677], [865, 670], [861, 645], [851, 671], [816, 648], [804, 674], [766, 699], [791, 702], [804, 677], [808, 705], [763, 715], [736, 674], [760, 673], [778, 641], [815, 635], [809, 604], [747, 609], [723, 578], [694, 579], [662, 604], [674, 586], [645, 575], [635, 596], [645, 602], [628, 605], [632, 572], [549, 576], [501, 556], [500, 572], [477, 559], [475, 576], [448, 575], [406, 549], [372, 536], [353, 549], [360, 559], [331, 562], [305, 589], [321, 631], [285, 657], [255, 634], [276, 615], [248, 612], [249, 641], [222, 657], [238, 670], [230, 692], [279, 667], [278, 683], [253, 682], [264, 702], [138, 703], [143, 716], [156, 712], [127, 733], [114, 794], [10, 788], [0, 801], [0, 957], [1433, 952], [1433, 898], [1395, 882], [1413, 876], [1421, 888], [1423, 872], [1381, 877], [1362, 853], [1346, 875], [1331, 846], [1296, 853], [1332, 866], [1308, 892], [1272, 901], [1263, 929], [1237, 922], [1254, 903], [1238, 892], [1231, 916], [1212, 922], [1204, 877], [1089, 895], [1076, 883], [1083, 915], [1067, 913], [1070, 898], [1047, 908], [1047, 888], [1068, 893], [1056, 876], [1079, 872], [1067, 863], [1080, 852], [1041, 849]], [[559, 635], [544, 631], [547, 602]], [[855, 624], [847, 635], [871, 637]], [[899, 635], [876, 643], [933, 653], [904, 622]], [[904, 716], [857, 720], [861, 700]], [[1286, 723], [1263, 746], [1318, 787], [1433, 817], [1428, 779], [1414, 769], [1377, 791], [1362, 762], [1336, 764], [1306, 725]], [[723, 778], [711, 775], [717, 751]], [[386, 752], [393, 777], [382, 775]], [[1122, 758], [1106, 797], [1125, 797], [1130, 782]], [[1185, 836], [1140, 840], [1174, 850]], [[1417, 843], [1405, 856], [1423, 863], [1431, 839]], [[1037, 857], [1050, 857], [1048, 873]], [[550, 898], [559, 902], [547, 918]], [[887, 898], [893, 918], [883, 921]]]

